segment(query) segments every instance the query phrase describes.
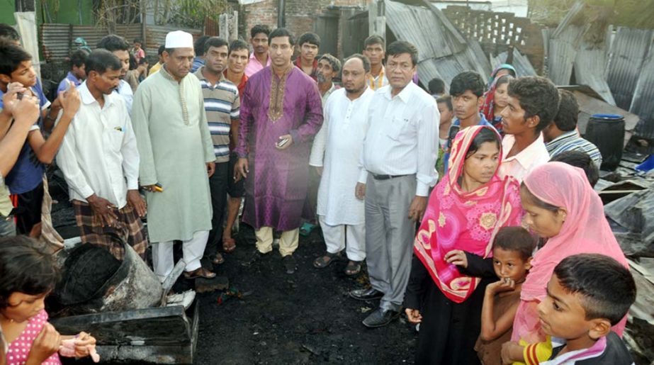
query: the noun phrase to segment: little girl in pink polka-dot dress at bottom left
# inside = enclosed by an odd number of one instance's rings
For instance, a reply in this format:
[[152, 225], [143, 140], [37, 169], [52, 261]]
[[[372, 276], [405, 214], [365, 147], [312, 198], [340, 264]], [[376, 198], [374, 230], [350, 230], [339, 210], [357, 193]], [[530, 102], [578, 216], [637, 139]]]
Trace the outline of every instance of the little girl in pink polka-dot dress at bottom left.
[[84, 332], [62, 336], [47, 322], [44, 300], [59, 272], [45, 246], [24, 236], [0, 239], [0, 278], [0, 326], [7, 365], [57, 365], [60, 353], [99, 360], [94, 337]]

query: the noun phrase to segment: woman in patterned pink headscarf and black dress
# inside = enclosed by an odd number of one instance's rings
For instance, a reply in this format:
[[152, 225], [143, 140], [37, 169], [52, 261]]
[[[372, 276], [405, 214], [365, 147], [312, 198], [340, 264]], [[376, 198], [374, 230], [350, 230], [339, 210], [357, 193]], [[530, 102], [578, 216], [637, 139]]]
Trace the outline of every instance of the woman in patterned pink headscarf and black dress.
[[495, 281], [492, 238], [519, 225], [519, 184], [497, 175], [500, 135], [492, 127], [461, 130], [450, 169], [429, 197], [414, 245], [405, 294], [410, 322], [420, 322], [416, 364], [479, 364], [485, 286]]

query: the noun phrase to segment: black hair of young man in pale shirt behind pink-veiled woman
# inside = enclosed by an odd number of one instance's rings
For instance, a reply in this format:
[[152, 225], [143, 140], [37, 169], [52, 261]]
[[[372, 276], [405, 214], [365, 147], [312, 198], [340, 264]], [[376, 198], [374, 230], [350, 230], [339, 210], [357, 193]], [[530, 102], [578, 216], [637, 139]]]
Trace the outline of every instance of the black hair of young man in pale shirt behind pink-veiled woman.
[[509, 96], [518, 99], [524, 109], [524, 119], [539, 117], [536, 133], [545, 129], [558, 112], [558, 91], [545, 77], [518, 77], [509, 83]]

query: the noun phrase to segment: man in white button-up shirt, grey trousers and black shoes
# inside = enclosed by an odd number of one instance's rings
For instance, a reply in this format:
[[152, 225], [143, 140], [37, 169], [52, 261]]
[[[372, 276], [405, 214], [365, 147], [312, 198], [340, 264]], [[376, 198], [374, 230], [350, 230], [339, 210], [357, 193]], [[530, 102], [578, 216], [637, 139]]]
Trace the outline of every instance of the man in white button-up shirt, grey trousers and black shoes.
[[371, 289], [350, 292], [379, 308], [366, 327], [388, 325], [399, 315], [409, 280], [415, 222], [427, 208], [436, 181], [439, 111], [436, 101], [412, 83], [418, 51], [403, 40], [386, 50], [390, 84], [376, 91], [368, 108], [356, 197], [365, 197], [366, 263]]

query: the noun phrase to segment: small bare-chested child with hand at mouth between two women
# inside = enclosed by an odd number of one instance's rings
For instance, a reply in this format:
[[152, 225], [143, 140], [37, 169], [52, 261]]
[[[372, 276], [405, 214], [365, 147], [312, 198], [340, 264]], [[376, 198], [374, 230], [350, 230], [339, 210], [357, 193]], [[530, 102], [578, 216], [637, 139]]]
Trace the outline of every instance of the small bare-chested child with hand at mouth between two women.
[[502, 344], [511, 339], [520, 289], [529, 269], [535, 240], [521, 227], [501, 228], [492, 243], [493, 269], [499, 281], [486, 286], [481, 332], [475, 351], [484, 365], [500, 365]]

